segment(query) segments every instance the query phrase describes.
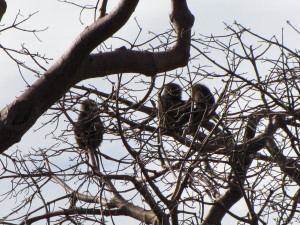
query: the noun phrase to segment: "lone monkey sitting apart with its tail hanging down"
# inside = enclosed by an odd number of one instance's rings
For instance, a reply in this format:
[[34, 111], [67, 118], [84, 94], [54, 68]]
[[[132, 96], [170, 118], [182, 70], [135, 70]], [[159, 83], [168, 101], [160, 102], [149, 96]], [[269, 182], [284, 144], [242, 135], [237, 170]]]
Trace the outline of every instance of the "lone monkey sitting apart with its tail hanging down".
[[104, 127], [95, 101], [82, 102], [74, 133], [78, 146], [87, 151], [93, 169], [99, 169], [96, 149], [102, 143]]

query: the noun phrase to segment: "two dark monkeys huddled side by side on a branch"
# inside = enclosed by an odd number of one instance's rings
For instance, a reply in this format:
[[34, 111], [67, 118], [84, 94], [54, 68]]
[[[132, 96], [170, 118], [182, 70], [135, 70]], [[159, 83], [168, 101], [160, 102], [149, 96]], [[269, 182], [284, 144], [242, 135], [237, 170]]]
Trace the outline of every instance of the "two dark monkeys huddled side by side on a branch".
[[166, 128], [181, 133], [187, 124], [189, 132], [195, 133], [199, 125], [218, 116], [214, 110], [215, 98], [203, 84], [192, 86], [191, 98], [182, 100], [182, 89], [178, 84], [168, 83], [159, 98], [159, 117]]

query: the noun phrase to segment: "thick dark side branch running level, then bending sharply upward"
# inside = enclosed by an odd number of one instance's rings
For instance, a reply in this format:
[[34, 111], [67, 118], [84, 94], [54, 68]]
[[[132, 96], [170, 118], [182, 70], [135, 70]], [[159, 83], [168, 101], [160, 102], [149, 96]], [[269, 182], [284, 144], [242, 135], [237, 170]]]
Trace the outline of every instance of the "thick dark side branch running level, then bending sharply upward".
[[191, 28], [194, 23], [194, 17], [190, 13], [186, 1], [172, 1], [170, 18], [178, 35], [173, 48], [158, 53], [120, 48], [114, 52], [93, 54], [84, 64], [83, 76], [85, 79], [120, 72], [154, 76], [160, 72], [185, 66], [190, 56]]

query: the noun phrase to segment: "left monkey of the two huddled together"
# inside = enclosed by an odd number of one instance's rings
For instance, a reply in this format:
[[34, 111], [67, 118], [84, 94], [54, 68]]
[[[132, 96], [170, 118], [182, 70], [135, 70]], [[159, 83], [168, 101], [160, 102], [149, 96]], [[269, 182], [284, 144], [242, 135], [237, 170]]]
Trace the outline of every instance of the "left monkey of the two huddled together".
[[181, 98], [181, 87], [175, 83], [168, 83], [163, 86], [163, 92], [158, 101], [159, 117], [163, 124], [177, 131], [189, 119], [187, 110], [190, 110], [190, 107]]

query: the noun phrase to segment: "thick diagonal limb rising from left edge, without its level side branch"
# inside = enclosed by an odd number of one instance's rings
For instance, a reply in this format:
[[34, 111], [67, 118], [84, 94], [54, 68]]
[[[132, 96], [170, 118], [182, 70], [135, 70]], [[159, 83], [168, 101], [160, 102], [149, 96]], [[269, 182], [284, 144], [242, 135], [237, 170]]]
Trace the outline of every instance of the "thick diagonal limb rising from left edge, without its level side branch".
[[121, 28], [138, 0], [122, 0], [111, 15], [87, 27], [68, 51], [24, 94], [0, 114], [0, 152], [20, 141], [35, 121], [71, 86], [80, 81], [81, 64], [101, 42]]

